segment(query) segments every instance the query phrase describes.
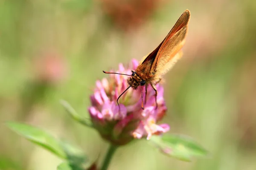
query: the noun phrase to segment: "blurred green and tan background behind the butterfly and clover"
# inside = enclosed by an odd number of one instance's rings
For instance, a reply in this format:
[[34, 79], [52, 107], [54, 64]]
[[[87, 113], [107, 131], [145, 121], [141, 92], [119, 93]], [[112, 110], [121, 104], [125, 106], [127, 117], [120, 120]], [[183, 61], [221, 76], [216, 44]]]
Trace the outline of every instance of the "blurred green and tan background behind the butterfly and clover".
[[141, 59], [191, 11], [183, 58], [165, 75], [171, 133], [210, 152], [187, 163], [144, 140], [120, 147], [111, 170], [256, 169], [255, 0], [0, 0], [0, 169], [55, 170], [61, 160], [9, 130], [12, 120], [79, 145], [99, 163], [108, 144], [77, 124], [102, 70]]

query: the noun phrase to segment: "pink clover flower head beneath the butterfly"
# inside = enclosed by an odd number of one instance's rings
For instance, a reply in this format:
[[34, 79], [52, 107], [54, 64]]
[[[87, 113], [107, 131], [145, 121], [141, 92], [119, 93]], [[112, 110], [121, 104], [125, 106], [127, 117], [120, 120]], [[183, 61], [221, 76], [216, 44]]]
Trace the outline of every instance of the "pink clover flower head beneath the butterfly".
[[[135, 70], [138, 61], [133, 59], [128, 68], [119, 64], [117, 73], [131, 74]], [[88, 108], [94, 127], [101, 136], [113, 144], [126, 144], [133, 139], [145, 137], [150, 139], [152, 135], [165, 133], [169, 125], [157, 125], [157, 121], [166, 113], [166, 105], [163, 99], [163, 87], [156, 85], [157, 104], [155, 103], [155, 91], [149, 85], [147, 87], [146, 103], [144, 110], [141, 108], [141, 91], [128, 89], [119, 99], [120, 108], [116, 103], [119, 95], [128, 88], [127, 76], [111, 74], [109, 79], [96, 82], [94, 94], [90, 96], [91, 106]], [[143, 86], [143, 99], [145, 99], [145, 86]]]

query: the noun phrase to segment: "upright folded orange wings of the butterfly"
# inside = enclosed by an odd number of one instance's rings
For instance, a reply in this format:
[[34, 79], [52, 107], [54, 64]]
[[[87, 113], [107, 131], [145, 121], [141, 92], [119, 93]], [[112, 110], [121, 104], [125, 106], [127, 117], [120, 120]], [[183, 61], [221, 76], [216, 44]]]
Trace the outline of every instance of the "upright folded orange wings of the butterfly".
[[[163, 74], [163, 72], [167, 71], [182, 56], [182, 53], [179, 51], [185, 42], [184, 39], [186, 37], [189, 19], [190, 11], [187, 9], [160, 45], [143, 60], [142, 64], [151, 65], [150, 71], [152, 73], [160, 72]], [[168, 63], [172, 59], [174, 60], [173, 64]]]

